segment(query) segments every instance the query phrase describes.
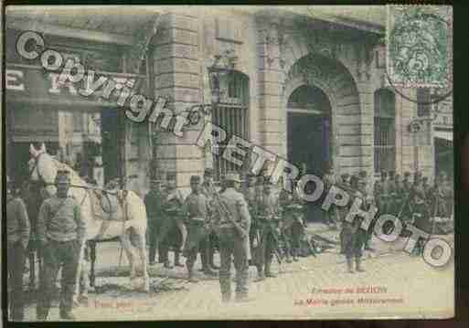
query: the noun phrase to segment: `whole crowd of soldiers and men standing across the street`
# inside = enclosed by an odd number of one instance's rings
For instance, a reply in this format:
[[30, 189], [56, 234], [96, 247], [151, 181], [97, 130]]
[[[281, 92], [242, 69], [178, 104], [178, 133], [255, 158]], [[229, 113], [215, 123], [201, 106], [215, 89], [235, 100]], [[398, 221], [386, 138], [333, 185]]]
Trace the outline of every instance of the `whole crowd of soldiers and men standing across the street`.
[[[302, 200], [298, 193], [298, 182], [293, 181], [293, 193], [282, 188], [277, 193], [277, 185], [272, 185], [265, 175], [248, 175], [246, 181], [241, 181], [239, 174], [227, 174], [218, 190], [213, 171], [206, 169], [203, 176], [191, 176], [191, 193], [184, 197], [176, 188], [175, 172], [168, 173], [165, 181], [163, 185], [163, 179], [152, 179], [150, 192], [144, 196], [149, 265], [155, 266], [157, 254], [158, 262], [166, 269], [186, 266], [187, 279], [197, 282], [194, 270], [200, 254], [200, 270], [208, 276], [219, 276], [223, 302], [231, 301], [231, 263], [236, 271], [235, 301], [247, 302], [250, 301], [250, 265], [257, 269], [255, 281], [261, 281], [275, 277], [273, 260], [279, 263], [300, 260], [304, 256], [302, 245], [309, 245], [314, 254], [314, 247], [305, 234], [305, 221], [314, 217], [309, 217], [311, 204]], [[404, 224], [414, 224], [430, 234], [435, 233], [433, 217], [452, 217], [453, 214], [453, 187], [444, 172], [430, 185], [420, 172], [413, 176], [406, 172], [402, 179], [392, 172], [381, 172], [380, 179], [373, 182], [365, 171], [357, 175], [343, 174], [337, 179], [331, 168], [323, 181], [325, 193], [338, 186], [350, 196], [347, 206], [331, 206], [325, 215], [326, 224], [333, 229], [340, 228], [341, 253], [346, 257], [349, 272], [364, 271], [362, 251], [373, 250], [370, 245], [373, 223], [364, 231], [358, 228], [362, 217], [357, 216], [352, 222], [345, 220], [357, 197], [362, 200], [364, 210], [375, 205], [378, 213], [395, 215]], [[39, 295], [37, 317], [47, 319], [52, 287], [62, 269], [60, 316], [73, 320], [71, 296], [79, 261], [77, 254], [84, 242], [84, 225], [80, 206], [67, 196], [70, 185], [67, 172], [58, 173], [56, 185], [57, 195], [42, 203], [37, 218], [36, 238], [42, 250], [43, 270], [47, 272], [41, 282], [44, 292]], [[14, 320], [21, 321], [22, 277], [31, 227], [27, 208], [14, 193], [11, 182], [8, 182], [8, 190], [8, 272], [13, 282], [10, 313]], [[174, 250], [173, 262], [169, 257], [170, 249]], [[214, 260], [217, 251], [219, 265]], [[181, 255], [186, 258], [184, 264]]]

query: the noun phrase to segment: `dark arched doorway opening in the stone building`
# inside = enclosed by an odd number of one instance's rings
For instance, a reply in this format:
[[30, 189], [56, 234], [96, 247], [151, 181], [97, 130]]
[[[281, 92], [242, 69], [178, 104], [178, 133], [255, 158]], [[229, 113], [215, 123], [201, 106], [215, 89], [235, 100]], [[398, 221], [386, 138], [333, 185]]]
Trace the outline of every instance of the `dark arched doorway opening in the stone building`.
[[331, 164], [331, 103], [323, 90], [302, 85], [293, 90], [287, 102], [288, 161], [323, 175]]

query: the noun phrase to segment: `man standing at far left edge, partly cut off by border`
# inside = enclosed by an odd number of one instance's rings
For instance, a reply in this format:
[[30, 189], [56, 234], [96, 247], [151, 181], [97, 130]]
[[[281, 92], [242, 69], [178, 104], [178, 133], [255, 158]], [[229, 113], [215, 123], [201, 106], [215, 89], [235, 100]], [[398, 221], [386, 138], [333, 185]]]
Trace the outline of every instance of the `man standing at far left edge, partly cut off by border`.
[[8, 301], [10, 315], [14, 321], [24, 319], [23, 270], [29, 242], [29, 219], [23, 200], [16, 196], [13, 181], [6, 176], [6, 229], [8, 278], [11, 286]]

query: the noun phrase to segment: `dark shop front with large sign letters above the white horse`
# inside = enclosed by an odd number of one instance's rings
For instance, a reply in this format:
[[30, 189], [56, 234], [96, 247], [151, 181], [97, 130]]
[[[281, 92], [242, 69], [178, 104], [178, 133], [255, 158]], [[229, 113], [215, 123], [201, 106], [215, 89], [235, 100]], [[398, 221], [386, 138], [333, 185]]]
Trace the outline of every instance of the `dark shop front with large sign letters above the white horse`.
[[[9, 30], [8, 44], [20, 32]], [[56, 40], [54, 38], [54, 40]], [[67, 45], [66, 47], [64, 45]], [[110, 46], [82, 46], [78, 40], [60, 40], [54, 47], [64, 58], [74, 58], [85, 67], [99, 67], [101, 76], [112, 79], [119, 87], [132, 80], [136, 88], [144, 85], [146, 77], [125, 73], [123, 51]], [[88, 97], [80, 94], [85, 79], [77, 83], [59, 83], [60, 71], [42, 68], [39, 62], [20, 58], [9, 51], [5, 69], [5, 108], [7, 174], [17, 183], [27, 180], [29, 146], [46, 145], [48, 153], [69, 164], [87, 180], [103, 186], [113, 178], [125, 176], [124, 108], [117, 106], [117, 96], [108, 100], [101, 92]], [[114, 92], [116, 93], [116, 92]]]

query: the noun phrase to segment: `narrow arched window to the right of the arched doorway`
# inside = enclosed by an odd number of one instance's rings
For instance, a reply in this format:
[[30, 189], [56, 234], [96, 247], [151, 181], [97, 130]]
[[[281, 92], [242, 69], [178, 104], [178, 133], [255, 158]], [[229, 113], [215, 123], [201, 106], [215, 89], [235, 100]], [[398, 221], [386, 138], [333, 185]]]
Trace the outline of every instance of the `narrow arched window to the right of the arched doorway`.
[[375, 173], [396, 166], [395, 97], [389, 90], [375, 92]]

